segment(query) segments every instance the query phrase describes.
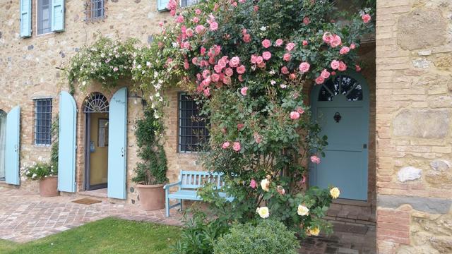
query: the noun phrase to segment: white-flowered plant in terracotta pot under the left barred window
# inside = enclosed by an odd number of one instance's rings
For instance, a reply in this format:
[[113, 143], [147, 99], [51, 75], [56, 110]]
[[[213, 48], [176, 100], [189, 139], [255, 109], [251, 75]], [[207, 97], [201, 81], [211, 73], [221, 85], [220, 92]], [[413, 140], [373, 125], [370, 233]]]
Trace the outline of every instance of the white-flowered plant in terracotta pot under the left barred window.
[[49, 162], [40, 162], [26, 167], [24, 171], [25, 176], [32, 181], [40, 181], [40, 195], [42, 197], [54, 197], [58, 192], [58, 169]]

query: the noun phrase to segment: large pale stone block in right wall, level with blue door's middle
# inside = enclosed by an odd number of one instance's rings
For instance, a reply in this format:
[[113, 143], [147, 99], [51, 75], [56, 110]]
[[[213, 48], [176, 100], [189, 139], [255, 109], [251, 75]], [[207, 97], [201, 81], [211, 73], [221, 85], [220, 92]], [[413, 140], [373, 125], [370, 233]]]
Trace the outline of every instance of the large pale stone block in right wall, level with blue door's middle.
[[451, 124], [447, 109], [403, 109], [393, 120], [393, 134], [415, 138], [444, 138]]

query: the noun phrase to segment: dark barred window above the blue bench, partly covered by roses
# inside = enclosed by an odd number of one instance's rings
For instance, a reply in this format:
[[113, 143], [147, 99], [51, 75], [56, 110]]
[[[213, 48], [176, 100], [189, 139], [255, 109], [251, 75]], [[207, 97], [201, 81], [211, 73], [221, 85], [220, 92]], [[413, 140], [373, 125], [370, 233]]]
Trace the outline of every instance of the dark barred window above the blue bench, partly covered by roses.
[[206, 119], [192, 97], [179, 94], [179, 152], [196, 152], [209, 140]]

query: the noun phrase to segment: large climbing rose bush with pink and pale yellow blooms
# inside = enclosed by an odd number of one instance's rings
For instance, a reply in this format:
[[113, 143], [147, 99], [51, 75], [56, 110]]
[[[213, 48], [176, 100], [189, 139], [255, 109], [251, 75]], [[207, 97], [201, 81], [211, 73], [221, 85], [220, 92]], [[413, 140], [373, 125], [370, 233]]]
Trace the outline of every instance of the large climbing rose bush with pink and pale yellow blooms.
[[[333, 1], [201, 1], [143, 47], [133, 77], [162, 107], [165, 85], [194, 92], [210, 118], [204, 166], [225, 173], [221, 191], [199, 193], [225, 223], [272, 217], [299, 236], [331, 231], [321, 218], [338, 189], [302, 191], [309, 159], [321, 163], [326, 137], [311, 121], [307, 84], [359, 71], [357, 49], [372, 32], [372, 10], [339, 16]], [[335, 21], [337, 20], [337, 21]]]

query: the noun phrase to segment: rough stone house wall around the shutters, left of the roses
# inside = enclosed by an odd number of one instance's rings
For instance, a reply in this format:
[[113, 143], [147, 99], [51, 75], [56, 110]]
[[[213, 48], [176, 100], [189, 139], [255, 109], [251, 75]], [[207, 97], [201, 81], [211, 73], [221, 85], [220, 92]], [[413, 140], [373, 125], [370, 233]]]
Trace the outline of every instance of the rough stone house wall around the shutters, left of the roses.
[[[21, 107], [20, 116], [20, 166], [37, 161], [38, 157], [48, 159], [50, 147], [34, 144], [34, 107], [32, 99], [52, 97], [53, 116], [58, 113], [58, 95], [61, 90], [69, 90], [64, 78], [64, 68], [71, 56], [83, 45], [93, 44], [98, 34], [107, 37], [136, 37], [143, 43], [152, 40], [152, 35], [160, 32], [158, 23], [172, 20], [168, 12], [157, 11], [156, 0], [107, 0], [104, 20], [86, 23], [85, 1], [66, 0], [65, 30], [59, 33], [36, 35], [37, 0], [32, 0], [32, 29], [30, 38], [19, 37], [19, 2], [0, 1], [0, 109], [9, 111], [16, 105]], [[129, 86], [126, 81], [121, 86]], [[83, 101], [89, 92], [102, 92], [108, 99], [116, 90], [102, 90], [93, 84], [87, 91], [76, 91], [74, 95], [78, 107], [76, 181], [77, 191], [83, 191], [85, 172], [85, 115]], [[169, 162], [168, 177], [174, 181], [180, 169], [198, 169], [196, 155], [177, 153], [177, 91], [167, 92], [167, 139], [165, 150]], [[131, 182], [136, 157], [134, 122], [143, 114], [141, 102], [129, 94], [128, 98], [128, 148], [127, 148], [127, 202], [135, 203], [138, 193]], [[37, 183], [22, 179], [20, 188], [37, 192]], [[118, 201], [118, 200], [116, 200]], [[115, 202], [116, 202], [115, 201]]]

